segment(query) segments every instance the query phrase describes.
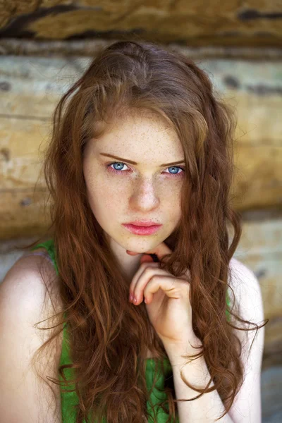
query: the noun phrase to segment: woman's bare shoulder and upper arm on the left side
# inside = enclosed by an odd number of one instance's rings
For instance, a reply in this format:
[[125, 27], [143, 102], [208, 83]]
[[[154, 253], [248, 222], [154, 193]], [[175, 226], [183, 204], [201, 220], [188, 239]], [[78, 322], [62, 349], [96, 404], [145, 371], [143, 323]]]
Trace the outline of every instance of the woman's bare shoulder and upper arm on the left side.
[[49, 343], [48, 353], [43, 350], [36, 370], [32, 367], [37, 350], [60, 329], [39, 329], [54, 326], [56, 319], [44, 320], [57, 312], [54, 266], [44, 257], [23, 255], [0, 284], [0, 415], [7, 422], [61, 422], [59, 386], [46, 375], [58, 379], [62, 333]]

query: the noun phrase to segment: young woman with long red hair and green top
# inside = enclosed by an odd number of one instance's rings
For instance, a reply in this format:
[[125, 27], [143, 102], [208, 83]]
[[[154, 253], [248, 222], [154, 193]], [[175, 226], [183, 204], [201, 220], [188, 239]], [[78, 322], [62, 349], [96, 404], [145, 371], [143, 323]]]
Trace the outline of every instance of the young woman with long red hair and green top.
[[111, 44], [63, 95], [47, 240], [0, 288], [5, 422], [261, 422], [234, 130], [207, 74], [154, 43]]

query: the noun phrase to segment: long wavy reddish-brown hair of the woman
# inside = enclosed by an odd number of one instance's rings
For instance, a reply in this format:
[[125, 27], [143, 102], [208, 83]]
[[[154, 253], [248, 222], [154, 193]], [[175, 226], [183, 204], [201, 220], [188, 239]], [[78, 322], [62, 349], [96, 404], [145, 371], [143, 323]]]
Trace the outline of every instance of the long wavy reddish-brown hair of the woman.
[[[77, 423], [99, 422], [102, 416], [108, 423], [142, 422], [150, 402], [143, 357], [149, 348], [161, 371], [167, 357], [145, 303], [133, 307], [128, 302], [130, 281], [90, 209], [82, 173], [88, 140], [103, 135], [114, 118], [138, 109], [163, 116], [183, 146], [182, 216], [165, 240], [172, 253], [159, 265], [176, 277], [190, 270], [192, 327], [202, 347], [185, 357], [189, 361], [204, 355], [214, 386], [200, 389], [185, 383], [200, 396], [216, 389], [226, 408], [223, 415], [244, 379], [235, 319], [256, 330], [264, 326], [240, 318], [234, 293], [231, 304], [226, 304], [228, 287], [232, 290], [229, 264], [242, 232], [241, 215], [231, 204], [233, 107], [214, 94], [207, 73], [176, 51], [135, 40], [100, 49], [56, 106], [43, 166], [51, 218], [47, 234], [54, 239], [63, 311], [52, 316], [60, 317], [55, 325], [59, 331], [37, 353], [67, 324], [72, 364], [61, 365], [58, 371], [67, 390], [64, 370], [73, 369], [69, 382], [75, 384], [78, 396]], [[233, 226], [232, 242], [228, 224]], [[226, 311], [231, 319], [226, 319]], [[241, 326], [241, 330], [254, 329]], [[172, 380], [171, 371], [164, 386], [167, 400], [161, 403], [168, 421], [175, 421], [179, 401]]]

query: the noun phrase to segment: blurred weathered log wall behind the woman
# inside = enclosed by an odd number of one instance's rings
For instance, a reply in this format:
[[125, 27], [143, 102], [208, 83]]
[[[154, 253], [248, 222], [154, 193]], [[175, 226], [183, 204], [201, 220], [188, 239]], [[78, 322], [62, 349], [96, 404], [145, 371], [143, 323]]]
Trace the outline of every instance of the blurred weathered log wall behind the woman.
[[[146, 39], [195, 60], [235, 107], [235, 257], [264, 300], [262, 422], [282, 422], [282, 2], [7, 0], [0, 3], [0, 283], [42, 235], [42, 152], [63, 92], [100, 46]], [[257, 322], [259, 323], [259, 322]]]

